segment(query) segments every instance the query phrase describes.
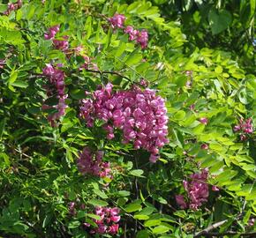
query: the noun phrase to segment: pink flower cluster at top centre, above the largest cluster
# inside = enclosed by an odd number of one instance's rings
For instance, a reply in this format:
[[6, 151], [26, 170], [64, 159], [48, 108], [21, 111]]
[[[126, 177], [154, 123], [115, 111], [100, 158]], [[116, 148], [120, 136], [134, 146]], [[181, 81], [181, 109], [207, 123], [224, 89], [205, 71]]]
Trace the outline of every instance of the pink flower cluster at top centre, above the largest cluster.
[[[115, 14], [114, 17], [109, 18], [109, 22], [111, 23], [111, 27], [113, 29], [116, 28], [124, 28], [125, 17], [122, 14]], [[129, 34], [130, 41], [136, 41], [141, 48], [147, 48], [148, 42], [148, 33], [147, 30], [139, 30], [133, 29], [132, 26], [126, 26], [124, 29], [124, 33]]]

